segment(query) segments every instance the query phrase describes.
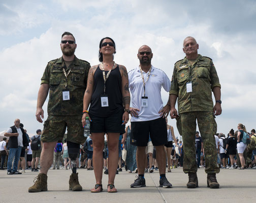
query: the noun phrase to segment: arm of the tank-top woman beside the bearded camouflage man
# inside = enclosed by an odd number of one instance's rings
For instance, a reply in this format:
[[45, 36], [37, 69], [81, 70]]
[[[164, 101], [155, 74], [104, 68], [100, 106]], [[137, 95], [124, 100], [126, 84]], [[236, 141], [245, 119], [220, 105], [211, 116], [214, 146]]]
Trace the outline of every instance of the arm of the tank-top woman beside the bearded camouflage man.
[[[84, 98], [83, 98], [83, 111], [87, 111], [89, 104], [90, 104], [90, 99], [93, 91], [93, 83], [94, 83], [94, 73], [97, 69], [98, 65], [93, 65], [90, 67], [89, 73], [88, 73], [88, 78], [87, 78], [87, 87], [84, 92]], [[85, 125], [85, 118], [89, 117], [88, 113], [84, 113], [82, 116], [82, 124]], [[90, 119], [90, 118], [89, 118]], [[91, 119], [90, 119], [91, 120]]]

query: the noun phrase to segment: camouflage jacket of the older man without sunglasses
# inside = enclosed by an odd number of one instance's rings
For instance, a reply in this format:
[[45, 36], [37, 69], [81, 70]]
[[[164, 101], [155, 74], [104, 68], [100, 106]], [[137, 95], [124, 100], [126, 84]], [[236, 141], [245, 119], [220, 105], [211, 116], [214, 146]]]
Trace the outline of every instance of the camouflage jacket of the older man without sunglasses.
[[[192, 83], [192, 92], [186, 84]], [[178, 96], [178, 112], [212, 111], [212, 89], [220, 87], [218, 75], [212, 60], [198, 55], [192, 65], [184, 57], [174, 65], [170, 94]]]

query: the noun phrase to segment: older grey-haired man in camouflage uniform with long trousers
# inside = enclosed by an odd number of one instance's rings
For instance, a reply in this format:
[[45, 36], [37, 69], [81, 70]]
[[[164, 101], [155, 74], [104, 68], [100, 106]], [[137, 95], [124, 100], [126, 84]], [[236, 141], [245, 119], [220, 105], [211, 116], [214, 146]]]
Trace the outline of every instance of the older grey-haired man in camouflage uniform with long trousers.
[[[214, 134], [215, 116], [221, 114], [220, 84], [212, 59], [198, 54], [199, 45], [192, 37], [185, 38], [183, 51], [186, 56], [175, 63], [171, 90], [171, 118], [177, 119], [177, 126], [183, 138], [183, 171], [188, 173], [187, 188], [198, 187], [195, 149], [196, 120], [204, 142], [205, 172], [207, 186], [219, 188], [216, 173], [217, 154]], [[213, 91], [216, 104], [213, 107]], [[178, 98], [178, 111], [175, 109]]]

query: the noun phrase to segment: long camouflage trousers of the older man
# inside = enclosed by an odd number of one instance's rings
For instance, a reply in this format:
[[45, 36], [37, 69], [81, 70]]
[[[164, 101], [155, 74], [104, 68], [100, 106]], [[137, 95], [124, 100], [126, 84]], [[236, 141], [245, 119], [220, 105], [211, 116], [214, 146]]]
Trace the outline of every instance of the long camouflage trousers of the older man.
[[200, 111], [181, 113], [180, 118], [177, 120], [177, 127], [183, 139], [183, 172], [185, 174], [188, 172], [196, 173], [198, 170], [195, 147], [196, 120], [204, 144], [205, 172], [207, 174], [219, 173], [214, 138], [217, 124], [212, 112]]

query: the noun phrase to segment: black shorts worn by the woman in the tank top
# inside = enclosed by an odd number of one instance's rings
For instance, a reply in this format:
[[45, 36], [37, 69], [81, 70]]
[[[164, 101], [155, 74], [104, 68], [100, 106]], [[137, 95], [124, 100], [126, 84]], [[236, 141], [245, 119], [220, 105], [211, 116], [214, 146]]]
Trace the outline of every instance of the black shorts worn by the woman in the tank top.
[[109, 117], [98, 117], [89, 114], [90, 119], [90, 132], [100, 133], [100, 132], [114, 132], [114, 133], [125, 133], [125, 125], [122, 125], [122, 116], [124, 111], [119, 111]]

